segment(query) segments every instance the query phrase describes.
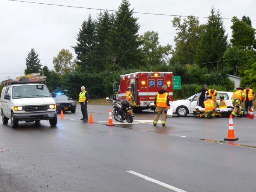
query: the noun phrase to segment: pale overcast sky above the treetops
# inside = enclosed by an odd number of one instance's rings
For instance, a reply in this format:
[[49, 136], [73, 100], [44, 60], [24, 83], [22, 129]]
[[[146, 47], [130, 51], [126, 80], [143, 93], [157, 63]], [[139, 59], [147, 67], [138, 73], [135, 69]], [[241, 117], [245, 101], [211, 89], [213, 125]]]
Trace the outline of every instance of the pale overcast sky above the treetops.
[[[58, 5], [117, 10], [121, 0], [27, 0]], [[130, 0], [134, 12], [208, 17], [211, 6], [219, 9], [223, 18], [243, 15], [256, 19], [256, 0]], [[52, 59], [60, 50], [68, 49], [76, 57], [71, 46], [82, 22], [92, 14], [96, 18], [100, 10], [39, 5], [27, 2], [0, 0], [0, 81], [24, 75], [25, 58], [33, 47], [43, 66], [53, 69]], [[133, 14], [139, 18], [139, 34], [157, 31], [161, 45], [174, 45], [175, 28], [171, 16]], [[199, 19], [206, 23], [207, 19]], [[224, 19], [228, 39], [231, 36], [231, 20]], [[252, 21], [256, 28], [256, 21]]]

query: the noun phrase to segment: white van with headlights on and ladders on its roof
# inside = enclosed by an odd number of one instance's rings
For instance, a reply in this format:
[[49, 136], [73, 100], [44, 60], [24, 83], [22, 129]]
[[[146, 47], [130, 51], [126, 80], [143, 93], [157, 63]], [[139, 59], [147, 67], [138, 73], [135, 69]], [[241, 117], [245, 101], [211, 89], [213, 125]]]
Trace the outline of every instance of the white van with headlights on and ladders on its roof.
[[3, 124], [11, 119], [12, 128], [18, 127], [19, 121], [49, 120], [51, 126], [57, 124], [55, 100], [47, 86], [40, 83], [16, 82], [5, 86], [0, 97], [0, 113]]

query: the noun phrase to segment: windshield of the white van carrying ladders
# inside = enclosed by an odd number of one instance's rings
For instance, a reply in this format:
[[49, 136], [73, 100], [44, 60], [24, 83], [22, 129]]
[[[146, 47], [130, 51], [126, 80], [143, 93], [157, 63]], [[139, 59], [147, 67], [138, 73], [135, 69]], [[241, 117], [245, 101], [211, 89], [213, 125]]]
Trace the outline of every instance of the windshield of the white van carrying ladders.
[[12, 98], [52, 97], [45, 85], [22, 85], [12, 88]]

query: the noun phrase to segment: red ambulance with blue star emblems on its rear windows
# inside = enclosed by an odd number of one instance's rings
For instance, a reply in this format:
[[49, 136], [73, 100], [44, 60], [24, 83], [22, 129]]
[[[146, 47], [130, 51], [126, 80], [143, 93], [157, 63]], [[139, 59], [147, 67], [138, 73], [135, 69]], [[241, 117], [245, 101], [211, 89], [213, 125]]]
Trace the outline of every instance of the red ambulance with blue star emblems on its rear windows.
[[137, 104], [134, 111], [155, 109], [156, 92], [167, 85], [170, 101], [173, 100], [173, 73], [172, 72], [136, 72], [120, 76], [120, 86], [117, 98], [126, 99], [128, 87], [132, 87], [133, 96]]

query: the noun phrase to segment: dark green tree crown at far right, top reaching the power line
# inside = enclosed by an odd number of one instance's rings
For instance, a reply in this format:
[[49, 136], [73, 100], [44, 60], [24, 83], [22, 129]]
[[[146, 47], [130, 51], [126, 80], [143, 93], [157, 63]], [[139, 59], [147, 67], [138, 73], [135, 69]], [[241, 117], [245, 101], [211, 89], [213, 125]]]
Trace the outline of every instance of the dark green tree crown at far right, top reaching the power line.
[[247, 49], [252, 48], [255, 43], [255, 29], [247, 24], [247, 20], [240, 21], [237, 17], [233, 17], [232, 23], [230, 27], [232, 29], [232, 38], [230, 39], [232, 45]]

